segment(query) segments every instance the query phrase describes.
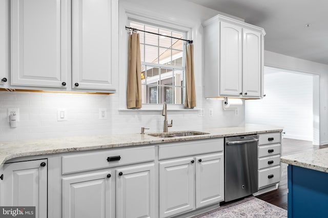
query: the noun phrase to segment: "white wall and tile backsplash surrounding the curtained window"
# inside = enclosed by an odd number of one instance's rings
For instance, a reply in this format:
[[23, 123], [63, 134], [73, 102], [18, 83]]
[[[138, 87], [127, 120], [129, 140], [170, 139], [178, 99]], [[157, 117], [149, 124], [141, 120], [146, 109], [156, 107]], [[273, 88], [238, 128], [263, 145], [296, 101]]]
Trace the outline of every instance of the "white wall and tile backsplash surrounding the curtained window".
[[[174, 7], [172, 7], [174, 5]], [[119, 86], [111, 95], [55, 94], [32, 92], [0, 92], [0, 141], [36, 139], [61, 136], [103, 135], [138, 133], [140, 127], [150, 127], [149, 132], [162, 131], [161, 106], [157, 110], [124, 110], [127, 74], [127, 31], [125, 10], [147, 14], [157, 19], [180, 23], [191, 29], [194, 40], [195, 83], [197, 108], [204, 109], [204, 116], [197, 110], [170, 110], [173, 119], [169, 130], [203, 130], [214, 127], [231, 127], [244, 124], [244, 106], [233, 111], [223, 111], [222, 100], [203, 98], [203, 45], [201, 22], [218, 14], [217, 11], [198, 6], [185, 0], [120, 0], [119, 1]], [[157, 13], [160, 11], [161, 13]], [[7, 108], [18, 107], [20, 122], [17, 128], [7, 123]], [[57, 109], [66, 108], [68, 120], [57, 122]], [[107, 108], [108, 118], [98, 119], [98, 109]], [[209, 117], [209, 108], [213, 116]]]

